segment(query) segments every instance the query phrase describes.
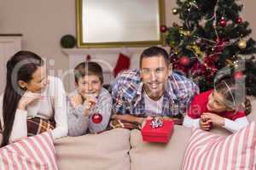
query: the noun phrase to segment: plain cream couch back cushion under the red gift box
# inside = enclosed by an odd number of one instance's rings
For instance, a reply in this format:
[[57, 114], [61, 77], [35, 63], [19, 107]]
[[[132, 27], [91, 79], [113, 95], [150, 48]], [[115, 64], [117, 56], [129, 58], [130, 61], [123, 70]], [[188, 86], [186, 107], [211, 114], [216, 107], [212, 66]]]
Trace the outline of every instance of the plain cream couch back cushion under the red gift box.
[[143, 142], [141, 132], [131, 131], [131, 170], [180, 169], [191, 129], [174, 126], [168, 144]]

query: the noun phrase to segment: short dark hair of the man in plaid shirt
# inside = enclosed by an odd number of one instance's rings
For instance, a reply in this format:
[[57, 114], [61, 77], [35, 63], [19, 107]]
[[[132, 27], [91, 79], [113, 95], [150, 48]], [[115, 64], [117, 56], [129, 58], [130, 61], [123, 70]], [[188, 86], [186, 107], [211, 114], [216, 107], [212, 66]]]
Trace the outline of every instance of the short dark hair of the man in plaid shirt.
[[141, 57], [140, 57], [140, 67], [142, 66], [143, 58], [149, 58], [149, 57], [155, 57], [155, 56], [163, 56], [166, 61], [166, 65], [170, 65], [171, 61], [169, 59], [169, 54], [166, 52], [166, 49], [154, 46], [154, 47], [146, 48], [143, 51], [143, 54], [141, 54]]

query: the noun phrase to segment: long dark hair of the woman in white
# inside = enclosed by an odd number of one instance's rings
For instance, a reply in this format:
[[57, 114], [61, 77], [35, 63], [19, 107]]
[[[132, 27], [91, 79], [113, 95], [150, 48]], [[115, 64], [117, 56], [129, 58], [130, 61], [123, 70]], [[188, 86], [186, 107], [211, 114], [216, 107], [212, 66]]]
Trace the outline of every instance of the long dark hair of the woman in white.
[[3, 94], [3, 140], [1, 147], [9, 144], [10, 134], [15, 120], [15, 112], [26, 89], [19, 87], [18, 81], [30, 82], [32, 74], [44, 60], [38, 54], [19, 51], [12, 56], [6, 65], [6, 87]]

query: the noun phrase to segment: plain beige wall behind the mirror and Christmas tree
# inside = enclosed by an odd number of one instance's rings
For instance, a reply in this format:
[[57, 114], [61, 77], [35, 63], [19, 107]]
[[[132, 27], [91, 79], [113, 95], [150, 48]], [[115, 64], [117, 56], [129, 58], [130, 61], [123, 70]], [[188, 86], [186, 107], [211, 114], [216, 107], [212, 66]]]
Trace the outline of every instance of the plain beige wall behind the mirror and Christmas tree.
[[[0, 0], [0, 33], [23, 34], [22, 48], [32, 50], [47, 59], [54, 59], [55, 71], [68, 68], [68, 59], [61, 53], [60, 38], [75, 35], [75, 0]], [[171, 10], [176, 0], [166, 0], [166, 25], [177, 20]], [[253, 20], [253, 0], [243, 1], [242, 17], [251, 23], [256, 39], [256, 20]], [[67, 80], [66, 80], [67, 81]], [[67, 84], [67, 83], [66, 83]], [[68, 87], [67, 87], [68, 88]]]

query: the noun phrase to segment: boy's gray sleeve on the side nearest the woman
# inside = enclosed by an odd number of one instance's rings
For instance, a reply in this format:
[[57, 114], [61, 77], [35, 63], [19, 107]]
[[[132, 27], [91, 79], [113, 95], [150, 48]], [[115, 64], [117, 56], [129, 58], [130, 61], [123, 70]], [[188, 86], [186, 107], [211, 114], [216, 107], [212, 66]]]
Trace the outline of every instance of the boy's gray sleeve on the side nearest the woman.
[[88, 120], [88, 116], [84, 116], [83, 105], [73, 108], [71, 103], [67, 102], [68, 136], [80, 136], [85, 134], [89, 126]]

